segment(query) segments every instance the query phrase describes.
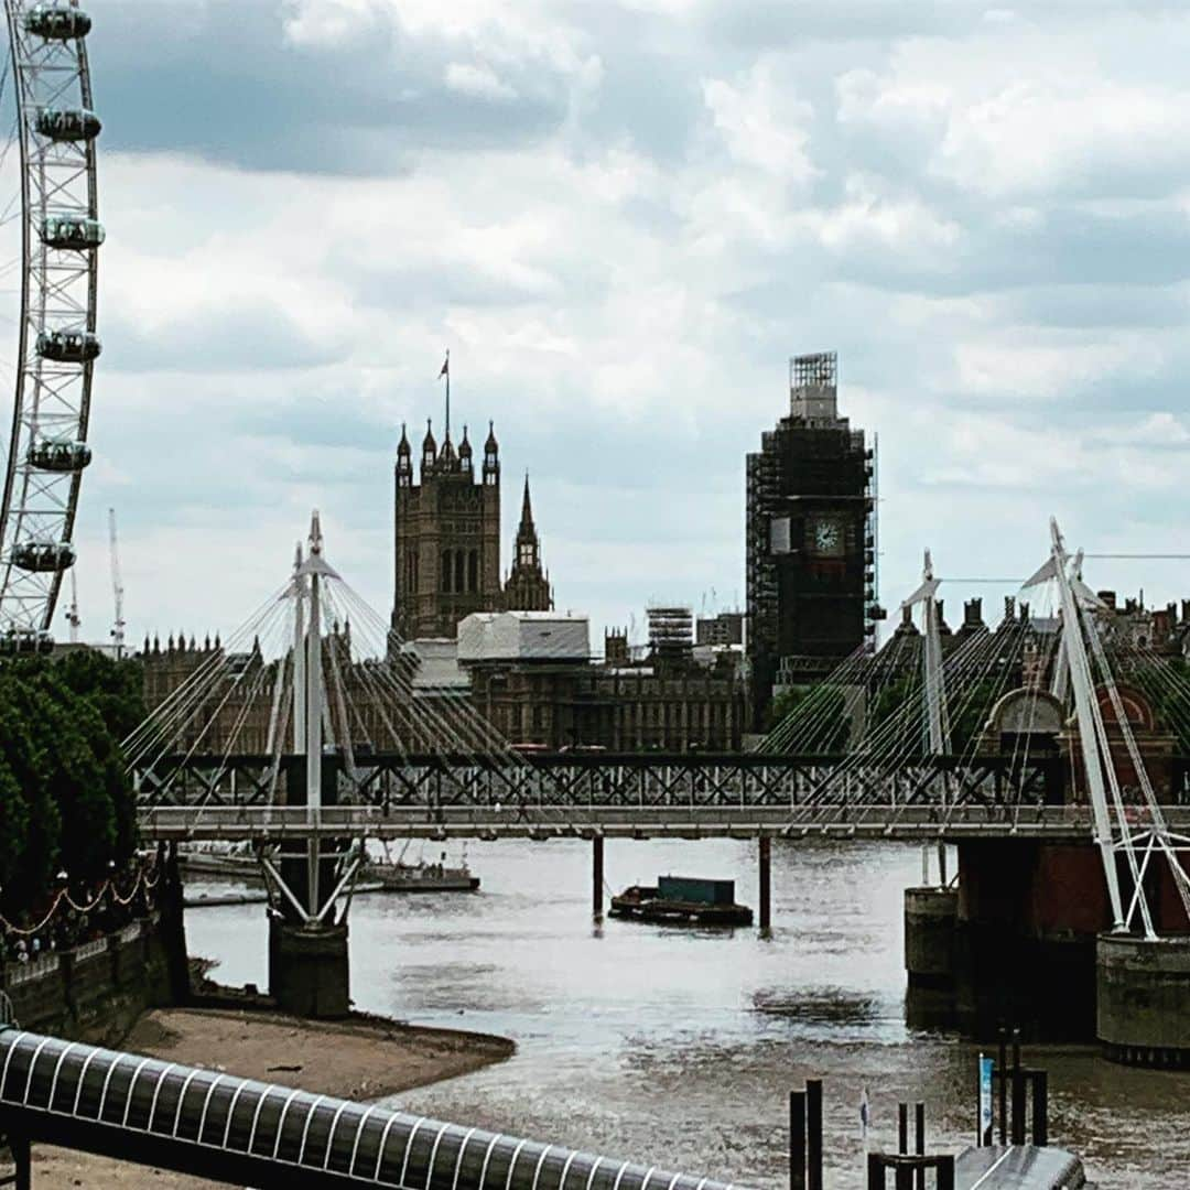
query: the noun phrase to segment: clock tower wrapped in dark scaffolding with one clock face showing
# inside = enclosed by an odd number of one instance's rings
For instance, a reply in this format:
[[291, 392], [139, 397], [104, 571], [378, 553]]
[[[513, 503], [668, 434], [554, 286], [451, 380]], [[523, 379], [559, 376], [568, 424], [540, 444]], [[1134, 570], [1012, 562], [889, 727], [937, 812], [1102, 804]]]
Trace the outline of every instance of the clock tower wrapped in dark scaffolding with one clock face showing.
[[876, 449], [839, 416], [834, 352], [789, 364], [789, 415], [747, 458], [754, 727], [778, 677], [812, 683], [875, 647]]

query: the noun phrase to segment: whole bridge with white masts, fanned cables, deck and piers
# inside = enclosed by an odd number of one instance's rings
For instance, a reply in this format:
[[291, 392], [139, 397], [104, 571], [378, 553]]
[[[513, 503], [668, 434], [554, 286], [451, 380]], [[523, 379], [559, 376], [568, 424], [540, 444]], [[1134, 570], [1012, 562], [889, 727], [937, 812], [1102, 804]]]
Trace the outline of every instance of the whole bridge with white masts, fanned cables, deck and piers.
[[[270, 979], [299, 1010], [345, 1003], [344, 906], [369, 839], [585, 838], [600, 913], [605, 839], [665, 835], [756, 838], [762, 929], [774, 839], [950, 841], [958, 888], [940, 846], [950, 900], [922, 910], [927, 942], [941, 912], [946, 929], [1164, 944], [1190, 1009], [1190, 947], [1175, 942], [1190, 923], [1190, 797], [1172, 744], [1153, 763], [1146, 710], [1190, 712], [1190, 683], [1109, 639], [1082, 563], [1051, 522], [1050, 556], [1022, 587], [1033, 612], [944, 651], [927, 553], [904, 602], [921, 624], [913, 665], [890, 663], [896, 639], [850, 658], [757, 751], [524, 754], [465, 696], [415, 687], [411, 646], [330, 564], [315, 513], [284, 585], [125, 741], [142, 831], [255, 846]], [[923, 976], [953, 975], [922, 962]], [[1104, 1040], [1190, 1061], [1180, 1027], [1155, 1047], [1127, 1031]]]

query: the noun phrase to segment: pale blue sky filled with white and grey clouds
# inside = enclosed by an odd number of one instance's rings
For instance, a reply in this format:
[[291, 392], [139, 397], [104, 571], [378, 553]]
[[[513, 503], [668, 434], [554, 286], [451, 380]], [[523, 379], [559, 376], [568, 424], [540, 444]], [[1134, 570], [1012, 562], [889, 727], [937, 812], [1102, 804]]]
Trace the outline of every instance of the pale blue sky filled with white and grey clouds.
[[[744, 457], [804, 351], [879, 434], [887, 605], [925, 545], [1023, 576], [1051, 513], [1190, 550], [1182, 0], [89, 7], [88, 637], [108, 505], [134, 634], [238, 624], [315, 505], [387, 613], [395, 445], [440, 424], [447, 346], [456, 421], [496, 422], [506, 558], [527, 468], [596, 640], [743, 600]], [[1184, 570], [1089, 577], [1165, 599]]]

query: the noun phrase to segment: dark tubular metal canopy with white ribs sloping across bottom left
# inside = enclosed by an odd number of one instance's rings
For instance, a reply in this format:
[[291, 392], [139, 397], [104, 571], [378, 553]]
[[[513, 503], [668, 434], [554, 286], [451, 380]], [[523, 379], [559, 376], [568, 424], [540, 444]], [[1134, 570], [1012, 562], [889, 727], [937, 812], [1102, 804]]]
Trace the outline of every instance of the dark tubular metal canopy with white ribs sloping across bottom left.
[[237, 1185], [732, 1190], [557, 1145], [0, 1029], [0, 1128]]

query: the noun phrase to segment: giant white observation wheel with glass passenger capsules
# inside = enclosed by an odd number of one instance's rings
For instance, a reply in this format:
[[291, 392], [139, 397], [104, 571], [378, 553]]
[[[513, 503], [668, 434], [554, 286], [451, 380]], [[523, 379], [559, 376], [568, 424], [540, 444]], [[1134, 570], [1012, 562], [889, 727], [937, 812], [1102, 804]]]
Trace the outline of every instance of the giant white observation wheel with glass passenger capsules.
[[[5, 0], [0, 55], [0, 392], [12, 430], [0, 503], [0, 652], [45, 652], [90, 462], [99, 221], [79, 0]], [[2, 414], [0, 414], [2, 416]]]

